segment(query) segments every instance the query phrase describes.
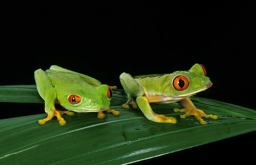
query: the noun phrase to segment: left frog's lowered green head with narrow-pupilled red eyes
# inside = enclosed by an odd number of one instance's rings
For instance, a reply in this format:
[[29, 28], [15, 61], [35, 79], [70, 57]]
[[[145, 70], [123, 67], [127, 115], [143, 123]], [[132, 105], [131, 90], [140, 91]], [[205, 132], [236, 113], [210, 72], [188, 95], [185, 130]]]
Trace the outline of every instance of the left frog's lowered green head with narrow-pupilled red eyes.
[[112, 90], [108, 85], [92, 86], [84, 90], [71, 90], [62, 98], [61, 105], [75, 112], [104, 111], [110, 105]]

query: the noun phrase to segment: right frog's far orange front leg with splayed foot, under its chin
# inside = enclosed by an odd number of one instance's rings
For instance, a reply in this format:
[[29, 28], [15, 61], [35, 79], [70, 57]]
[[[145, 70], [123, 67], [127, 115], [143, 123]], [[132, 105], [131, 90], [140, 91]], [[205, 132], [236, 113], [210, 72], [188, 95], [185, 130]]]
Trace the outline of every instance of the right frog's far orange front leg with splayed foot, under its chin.
[[184, 115], [180, 115], [181, 118], [186, 118], [189, 115], [194, 115], [196, 117], [196, 119], [199, 120], [199, 122], [201, 124], [207, 124], [201, 118], [201, 116], [205, 116], [207, 118], [210, 117], [210, 118], [214, 118], [214, 119], [218, 118], [218, 116], [216, 116], [216, 115], [207, 115], [207, 114], [204, 113], [204, 111], [197, 109], [189, 98], [185, 98], [183, 100], [180, 100], [180, 104], [185, 108], [184, 109], [175, 108], [174, 111], [175, 112], [177, 112], [177, 111], [186, 112]]

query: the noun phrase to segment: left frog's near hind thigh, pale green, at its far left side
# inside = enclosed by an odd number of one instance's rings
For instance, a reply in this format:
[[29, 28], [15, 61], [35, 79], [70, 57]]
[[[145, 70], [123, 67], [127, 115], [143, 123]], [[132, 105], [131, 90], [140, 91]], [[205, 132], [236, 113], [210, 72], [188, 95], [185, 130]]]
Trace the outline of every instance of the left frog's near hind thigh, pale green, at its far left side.
[[45, 93], [48, 86], [52, 86], [52, 81], [48, 77], [45, 71], [37, 69], [34, 72], [36, 88], [39, 95], [45, 100]]

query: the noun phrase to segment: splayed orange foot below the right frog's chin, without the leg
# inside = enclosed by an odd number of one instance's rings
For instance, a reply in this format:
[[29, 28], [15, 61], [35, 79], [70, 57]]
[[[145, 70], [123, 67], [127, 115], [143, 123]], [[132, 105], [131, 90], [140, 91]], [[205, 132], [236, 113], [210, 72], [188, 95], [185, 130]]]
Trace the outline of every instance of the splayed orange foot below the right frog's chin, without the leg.
[[174, 109], [175, 112], [180, 111], [180, 112], [186, 112], [184, 115], [180, 115], [181, 118], [186, 118], [189, 115], [194, 115], [196, 117], [197, 120], [199, 120], [199, 122], [201, 124], [207, 124], [202, 118], [201, 116], [205, 116], [206, 118], [210, 117], [210, 118], [214, 118], [217, 119], [218, 116], [216, 115], [207, 115], [204, 113], [204, 111], [197, 109], [196, 107], [187, 107], [184, 109]]

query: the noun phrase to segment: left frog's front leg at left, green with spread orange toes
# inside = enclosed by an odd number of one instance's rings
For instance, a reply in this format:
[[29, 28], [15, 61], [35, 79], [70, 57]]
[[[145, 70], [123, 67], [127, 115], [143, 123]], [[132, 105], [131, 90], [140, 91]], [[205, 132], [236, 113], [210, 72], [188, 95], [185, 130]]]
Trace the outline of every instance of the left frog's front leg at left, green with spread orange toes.
[[45, 124], [45, 122], [51, 120], [54, 116], [58, 118], [61, 126], [67, 123], [64, 120], [64, 118], [61, 117], [60, 112], [56, 111], [54, 107], [56, 100], [57, 100], [57, 93], [55, 88], [53, 88], [52, 86], [48, 86], [45, 92], [45, 103], [44, 103], [44, 109], [45, 109], [45, 112], [47, 113], [47, 118], [38, 120], [39, 124]]

